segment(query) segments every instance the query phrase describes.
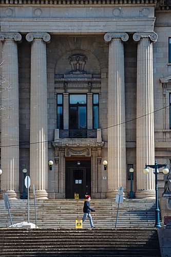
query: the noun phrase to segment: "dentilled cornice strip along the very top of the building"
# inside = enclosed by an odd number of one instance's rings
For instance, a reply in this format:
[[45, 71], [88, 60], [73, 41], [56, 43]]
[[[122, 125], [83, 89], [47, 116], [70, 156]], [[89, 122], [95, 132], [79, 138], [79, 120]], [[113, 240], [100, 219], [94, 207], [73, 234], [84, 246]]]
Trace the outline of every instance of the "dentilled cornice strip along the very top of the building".
[[156, 5], [157, 0], [0, 0], [1, 6], [104, 6], [104, 5]]

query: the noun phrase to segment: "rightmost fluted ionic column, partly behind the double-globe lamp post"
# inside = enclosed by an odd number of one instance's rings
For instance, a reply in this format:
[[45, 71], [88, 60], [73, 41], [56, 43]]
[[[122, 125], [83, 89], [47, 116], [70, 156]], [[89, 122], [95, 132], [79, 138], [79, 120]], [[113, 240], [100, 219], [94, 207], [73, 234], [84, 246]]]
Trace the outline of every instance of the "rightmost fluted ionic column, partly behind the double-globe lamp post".
[[145, 163], [155, 163], [153, 42], [154, 32], [135, 33], [137, 49], [137, 198], [155, 196], [153, 172], [143, 173]]

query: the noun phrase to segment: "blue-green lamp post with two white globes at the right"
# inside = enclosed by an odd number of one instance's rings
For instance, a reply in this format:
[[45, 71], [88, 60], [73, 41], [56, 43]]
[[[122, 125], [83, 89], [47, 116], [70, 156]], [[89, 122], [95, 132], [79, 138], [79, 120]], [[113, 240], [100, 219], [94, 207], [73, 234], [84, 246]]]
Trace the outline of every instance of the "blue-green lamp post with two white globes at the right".
[[160, 225], [160, 210], [159, 210], [159, 199], [158, 199], [158, 181], [157, 181], [157, 173], [158, 173], [158, 169], [164, 167], [163, 169], [163, 173], [167, 174], [169, 172], [169, 170], [167, 169], [167, 164], [158, 164], [157, 161], [155, 161], [155, 165], [148, 165], [145, 164], [145, 169], [144, 169], [144, 174], [148, 174], [149, 173], [149, 168], [155, 169], [155, 191], [156, 191], [156, 223], [155, 223], [155, 227], [156, 228], [161, 228]]

